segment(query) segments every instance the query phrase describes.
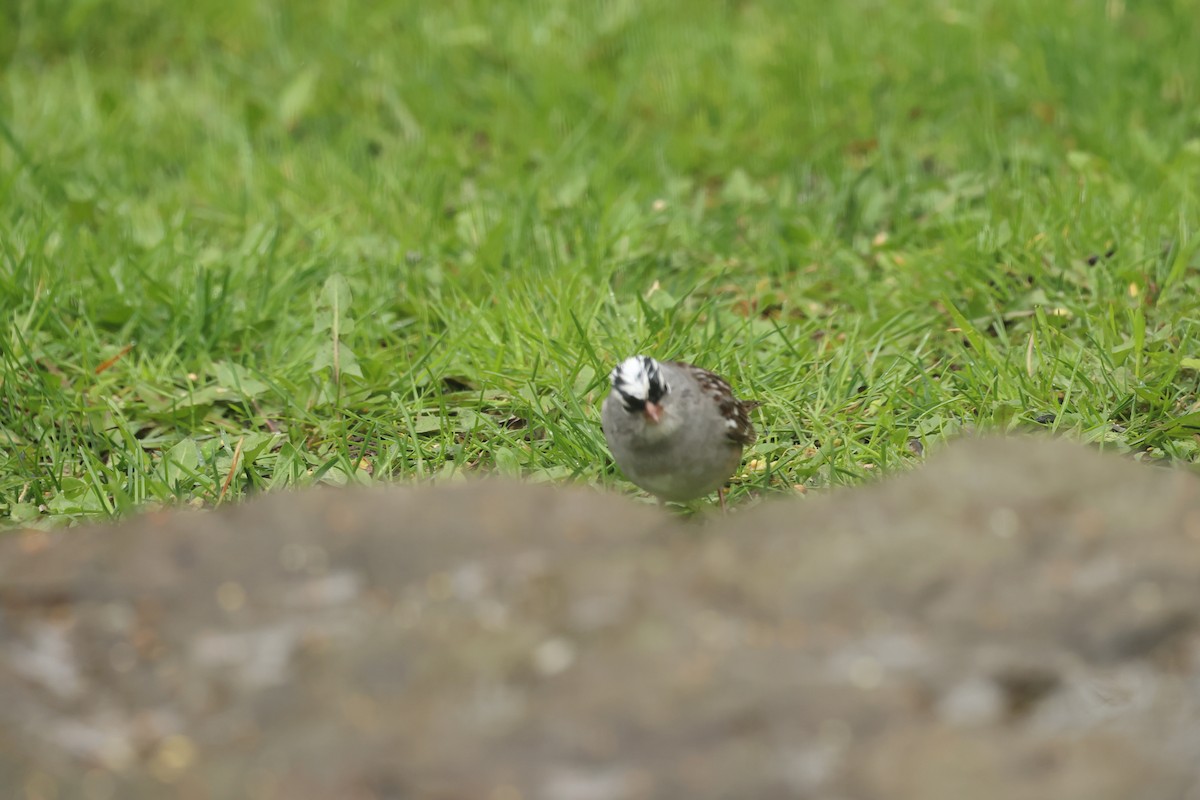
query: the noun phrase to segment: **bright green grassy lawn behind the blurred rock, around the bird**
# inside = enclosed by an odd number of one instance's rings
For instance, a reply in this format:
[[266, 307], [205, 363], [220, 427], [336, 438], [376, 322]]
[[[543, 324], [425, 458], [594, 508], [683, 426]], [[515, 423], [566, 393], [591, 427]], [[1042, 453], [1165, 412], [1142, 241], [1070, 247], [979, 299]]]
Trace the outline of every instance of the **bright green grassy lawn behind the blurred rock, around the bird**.
[[1186, 0], [0, 11], [0, 524], [499, 473], [634, 493], [632, 353], [764, 404], [732, 501], [965, 429], [1200, 463]]

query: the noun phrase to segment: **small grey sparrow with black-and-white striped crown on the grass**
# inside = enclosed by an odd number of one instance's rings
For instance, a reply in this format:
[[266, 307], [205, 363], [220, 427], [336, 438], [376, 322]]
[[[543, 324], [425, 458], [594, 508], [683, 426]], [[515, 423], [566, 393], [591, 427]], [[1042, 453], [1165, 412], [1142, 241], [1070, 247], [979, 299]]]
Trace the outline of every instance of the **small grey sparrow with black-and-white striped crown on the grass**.
[[608, 450], [630, 481], [682, 503], [722, 487], [755, 440], [751, 405], [718, 375], [690, 363], [635, 355], [610, 375], [600, 420]]

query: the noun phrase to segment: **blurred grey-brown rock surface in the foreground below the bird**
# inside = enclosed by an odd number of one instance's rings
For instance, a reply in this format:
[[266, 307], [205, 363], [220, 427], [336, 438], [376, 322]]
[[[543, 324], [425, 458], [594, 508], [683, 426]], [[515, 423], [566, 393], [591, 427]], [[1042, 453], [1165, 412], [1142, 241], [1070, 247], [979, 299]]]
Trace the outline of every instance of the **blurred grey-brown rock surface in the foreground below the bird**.
[[1063, 443], [13, 534], [0, 602], [4, 798], [1200, 798], [1200, 481]]

